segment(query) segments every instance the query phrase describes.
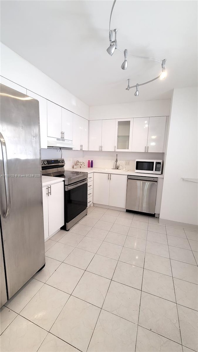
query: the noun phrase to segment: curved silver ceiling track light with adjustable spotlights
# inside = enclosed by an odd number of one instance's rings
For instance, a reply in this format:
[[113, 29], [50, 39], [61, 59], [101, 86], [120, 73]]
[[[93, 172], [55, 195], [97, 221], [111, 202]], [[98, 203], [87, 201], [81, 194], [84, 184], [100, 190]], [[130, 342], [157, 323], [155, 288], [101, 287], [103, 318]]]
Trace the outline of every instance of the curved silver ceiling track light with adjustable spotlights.
[[161, 80], [166, 78], [166, 75], [167, 75], [166, 67], [165, 67], [166, 59], [160, 60], [160, 59], [156, 59], [154, 57], [146, 57], [146, 56], [134, 55], [134, 54], [129, 53], [127, 49], [122, 50], [121, 48], [118, 47], [118, 45], [117, 45], [117, 32], [118, 32], [118, 30], [117, 29], [113, 30], [114, 33], [115, 33], [115, 39], [114, 40], [113, 40], [113, 31], [111, 30], [111, 17], [112, 17], [112, 12], [113, 12], [113, 8], [115, 6], [115, 3], [116, 3], [116, 0], [113, 1], [113, 5], [111, 7], [111, 13], [110, 13], [110, 20], [109, 20], [109, 41], [110, 41], [110, 46], [109, 46], [109, 48], [107, 48], [108, 54], [110, 56], [112, 56], [116, 49], [118, 49], [120, 52], [122, 52], [124, 54], [124, 61], [123, 61], [122, 65], [121, 65], [121, 69], [122, 70], [126, 70], [127, 67], [128, 67], [128, 61], [127, 61], [127, 57], [128, 56], [132, 56], [132, 57], [140, 58], [140, 59], [153, 60], [153, 61], [159, 62], [161, 64], [161, 67], [162, 67], [162, 71], [161, 71], [161, 74], [159, 76], [153, 78], [150, 81], [144, 82], [144, 83], [140, 83], [140, 84], [136, 83], [134, 86], [130, 87], [129, 86], [130, 79], [128, 78], [128, 86], [127, 86], [126, 90], [130, 90], [131, 88], [136, 88], [136, 91], [135, 91], [134, 95], [138, 96], [139, 95], [138, 87], [144, 86], [145, 84], [153, 82], [153, 81], [157, 80], [158, 78], [160, 78]]

